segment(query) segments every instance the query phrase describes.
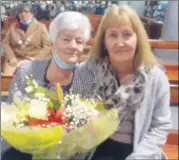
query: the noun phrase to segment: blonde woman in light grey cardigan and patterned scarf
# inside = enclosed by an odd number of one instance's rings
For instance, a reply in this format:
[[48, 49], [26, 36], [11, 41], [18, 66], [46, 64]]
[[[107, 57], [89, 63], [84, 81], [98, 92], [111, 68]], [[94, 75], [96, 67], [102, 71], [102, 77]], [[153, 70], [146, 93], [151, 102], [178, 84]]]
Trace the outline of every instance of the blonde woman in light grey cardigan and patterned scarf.
[[120, 110], [119, 129], [92, 159], [167, 159], [161, 147], [171, 128], [169, 82], [137, 13], [128, 6], [112, 7], [90, 53], [92, 58], [76, 70], [81, 73], [76, 91]]

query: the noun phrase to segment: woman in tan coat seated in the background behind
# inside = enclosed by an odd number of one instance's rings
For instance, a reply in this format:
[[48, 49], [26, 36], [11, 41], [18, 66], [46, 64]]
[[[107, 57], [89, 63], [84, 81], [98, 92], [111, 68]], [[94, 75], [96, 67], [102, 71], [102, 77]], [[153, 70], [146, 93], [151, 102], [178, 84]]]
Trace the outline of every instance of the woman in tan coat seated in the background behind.
[[4, 75], [12, 75], [24, 60], [51, 56], [51, 44], [44, 24], [34, 18], [30, 4], [17, 7], [17, 22], [13, 23], [3, 40], [5, 54]]

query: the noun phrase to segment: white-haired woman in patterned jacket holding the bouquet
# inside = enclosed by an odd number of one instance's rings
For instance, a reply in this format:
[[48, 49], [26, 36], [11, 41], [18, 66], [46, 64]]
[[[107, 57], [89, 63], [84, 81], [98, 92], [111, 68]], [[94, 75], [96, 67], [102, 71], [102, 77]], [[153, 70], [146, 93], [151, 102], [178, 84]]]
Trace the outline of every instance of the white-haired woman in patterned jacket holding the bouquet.
[[[90, 29], [88, 18], [81, 13], [63, 12], [59, 14], [50, 24], [49, 31], [53, 58], [24, 62], [12, 81], [8, 102], [11, 103], [14, 96], [25, 94], [25, 75], [32, 75], [40, 85], [52, 89], [57, 83], [60, 83], [64, 93], [68, 93], [69, 89], [73, 88], [73, 77], [78, 76], [75, 75], [75, 68], [83, 53], [84, 45], [90, 37]], [[14, 148], [5, 150], [2, 160], [11, 159], [30, 160], [31, 155], [21, 153]]]

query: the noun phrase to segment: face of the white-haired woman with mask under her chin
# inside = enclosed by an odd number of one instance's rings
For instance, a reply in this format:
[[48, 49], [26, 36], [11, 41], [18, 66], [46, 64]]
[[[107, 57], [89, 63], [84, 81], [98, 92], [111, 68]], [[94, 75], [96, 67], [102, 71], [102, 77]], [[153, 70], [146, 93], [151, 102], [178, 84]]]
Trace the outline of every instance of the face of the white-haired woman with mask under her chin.
[[68, 64], [76, 63], [84, 48], [84, 34], [80, 29], [64, 30], [54, 44], [56, 54]]

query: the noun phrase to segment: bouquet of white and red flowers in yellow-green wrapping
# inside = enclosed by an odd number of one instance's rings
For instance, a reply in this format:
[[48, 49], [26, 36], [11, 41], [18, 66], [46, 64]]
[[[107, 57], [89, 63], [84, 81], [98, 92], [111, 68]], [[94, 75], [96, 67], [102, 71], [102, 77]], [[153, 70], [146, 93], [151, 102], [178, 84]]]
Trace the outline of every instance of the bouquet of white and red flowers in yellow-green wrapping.
[[26, 79], [29, 96], [1, 106], [1, 134], [33, 159], [68, 159], [88, 152], [118, 128], [118, 109], [107, 110], [102, 102], [72, 91], [63, 95], [60, 84], [50, 90]]

